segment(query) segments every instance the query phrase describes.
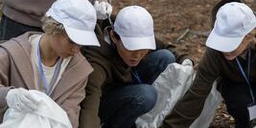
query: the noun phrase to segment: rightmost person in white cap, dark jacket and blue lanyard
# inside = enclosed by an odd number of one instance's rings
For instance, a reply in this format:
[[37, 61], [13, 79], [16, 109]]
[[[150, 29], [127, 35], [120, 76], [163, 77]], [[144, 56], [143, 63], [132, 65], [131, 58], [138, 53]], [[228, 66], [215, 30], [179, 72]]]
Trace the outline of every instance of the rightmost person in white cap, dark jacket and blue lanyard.
[[[220, 6], [222, 3], [226, 4]], [[221, 1], [217, 6], [220, 8], [216, 18], [212, 18], [216, 20], [192, 87], [160, 128], [189, 128], [200, 115], [214, 81], [227, 111], [236, 121], [236, 128], [252, 128], [250, 120], [255, 118], [256, 98], [253, 86], [256, 85], [256, 17], [241, 2]]]

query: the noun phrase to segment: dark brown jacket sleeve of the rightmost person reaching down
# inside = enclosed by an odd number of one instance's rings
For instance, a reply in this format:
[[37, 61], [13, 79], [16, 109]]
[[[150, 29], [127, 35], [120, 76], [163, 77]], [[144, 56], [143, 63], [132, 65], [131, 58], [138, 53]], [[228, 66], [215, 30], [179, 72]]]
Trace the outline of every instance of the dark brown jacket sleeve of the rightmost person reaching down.
[[177, 102], [172, 112], [166, 116], [161, 128], [189, 128], [203, 110], [212, 84], [221, 73], [220, 65], [214, 52], [207, 49], [199, 63], [192, 86]]

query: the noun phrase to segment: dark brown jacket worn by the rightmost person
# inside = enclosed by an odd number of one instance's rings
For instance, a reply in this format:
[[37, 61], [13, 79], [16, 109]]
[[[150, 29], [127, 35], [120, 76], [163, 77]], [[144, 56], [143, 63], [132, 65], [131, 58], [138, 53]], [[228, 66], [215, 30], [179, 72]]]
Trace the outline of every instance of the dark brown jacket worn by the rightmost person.
[[[252, 44], [251, 84], [256, 84], [256, 49]], [[244, 52], [247, 54], [247, 51]], [[246, 56], [246, 55], [244, 55]], [[247, 73], [247, 60], [239, 56], [239, 60]], [[173, 111], [166, 117], [161, 128], [189, 128], [200, 115], [204, 102], [212, 88], [213, 82], [221, 78], [222, 82], [247, 85], [239, 71], [236, 60], [227, 61], [221, 52], [207, 48], [199, 63], [197, 75], [185, 96], [175, 105]], [[223, 85], [225, 86], [225, 85]], [[221, 90], [220, 90], [221, 91]]]

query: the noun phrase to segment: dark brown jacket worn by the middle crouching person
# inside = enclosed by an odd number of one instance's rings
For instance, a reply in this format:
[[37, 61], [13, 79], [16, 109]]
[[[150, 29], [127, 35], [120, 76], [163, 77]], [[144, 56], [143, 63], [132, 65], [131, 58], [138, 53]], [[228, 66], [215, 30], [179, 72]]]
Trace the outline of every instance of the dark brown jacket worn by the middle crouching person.
[[[99, 128], [98, 109], [102, 88], [105, 85], [118, 87], [131, 84], [132, 81], [131, 68], [123, 62], [116, 51], [116, 47], [105, 42], [104, 36], [98, 36], [98, 40], [101, 47], [84, 47], [82, 50], [82, 54], [93, 66], [94, 71], [89, 76], [86, 97], [81, 103], [79, 128]], [[175, 47], [164, 44], [158, 39], [156, 41], [157, 49], [175, 49]], [[186, 57], [183, 54], [176, 55], [180, 60]]]

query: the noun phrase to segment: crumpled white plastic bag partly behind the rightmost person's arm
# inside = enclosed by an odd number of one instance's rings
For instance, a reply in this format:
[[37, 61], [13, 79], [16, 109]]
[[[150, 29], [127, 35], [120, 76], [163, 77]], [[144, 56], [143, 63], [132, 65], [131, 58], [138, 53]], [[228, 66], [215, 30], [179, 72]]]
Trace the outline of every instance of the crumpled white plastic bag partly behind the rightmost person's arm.
[[[166, 115], [172, 111], [176, 102], [189, 89], [194, 76], [195, 72], [191, 61], [185, 60], [183, 64], [170, 64], [153, 83], [158, 91], [157, 103], [150, 112], [137, 119], [137, 128], [158, 128]], [[222, 100], [220, 93], [216, 90], [216, 85], [214, 85], [201, 115], [190, 128], [208, 128], [215, 114], [215, 111], [212, 110], [217, 108]]]

